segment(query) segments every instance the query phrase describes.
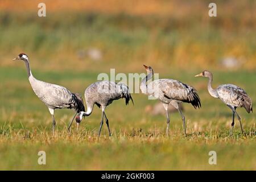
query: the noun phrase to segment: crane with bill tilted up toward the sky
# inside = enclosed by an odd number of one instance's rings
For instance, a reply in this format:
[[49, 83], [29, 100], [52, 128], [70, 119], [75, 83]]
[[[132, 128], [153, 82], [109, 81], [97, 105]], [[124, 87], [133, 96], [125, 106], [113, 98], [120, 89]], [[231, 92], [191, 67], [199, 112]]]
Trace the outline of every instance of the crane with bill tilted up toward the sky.
[[158, 98], [158, 100], [162, 101], [164, 109], [166, 110], [166, 117], [167, 117], [167, 128], [166, 134], [168, 136], [168, 130], [170, 126], [170, 118], [168, 114], [168, 105], [171, 104], [174, 106], [180, 113], [182, 121], [183, 121], [183, 129], [184, 134], [186, 134], [186, 127], [185, 127], [185, 116], [181, 112], [179, 104], [182, 102], [191, 103], [195, 109], [201, 107], [201, 102], [197, 91], [192, 86], [187, 84], [183, 84], [180, 81], [172, 80], [172, 79], [159, 79], [151, 81], [147, 84], [148, 80], [151, 80], [152, 76], [154, 75], [154, 71], [151, 67], [146, 68], [147, 76], [143, 78], [141, 82], [141, 91], [142, 93], [153, 96]]

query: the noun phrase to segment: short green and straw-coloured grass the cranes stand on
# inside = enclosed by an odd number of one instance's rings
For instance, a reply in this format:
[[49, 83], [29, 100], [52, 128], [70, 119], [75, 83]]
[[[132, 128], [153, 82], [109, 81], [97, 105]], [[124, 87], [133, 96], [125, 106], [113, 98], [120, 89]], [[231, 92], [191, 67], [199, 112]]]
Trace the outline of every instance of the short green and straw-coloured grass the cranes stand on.
[[[199, 71], [160, 74], [187, 82], [199, 91], [203, 105], [200, 110], [184, 104], [187, 138], [178, 113], [170, 115], [170, 137], [166, 137], [166, 118], [144, 112], [144, 106], [157, 101], [147, 100], [143, 94], [133, 94], [134, 106], [125, 106], [125, 101], [118, 100], [107, 107], [113, 136], [108, 137], [104, 124], [102, 135], [97, 138], [101, 117], [97, 107], [82, 120], [78, 135], [74, 133], [75, 124], [72, 134], [67, 133], [73, 111], [56, 110], [57, 130], [53, 136], [51, 115], [33, 93], [22, 66], [0, 68], [0, 169], [256, 169], [255, 114], [238, 109], [245, 135], [236, 120], [234, 136], [228, 137], [232, 112], [209, 96], [206, 78], [193, 77]], [[232, 82], [242, 86], [255, 101], [255, 72], [213, 72], [214, 86]], [[67, 75], [35, 69], [33, 73], [40, 80], [80, 93], [97, 78], [95, 72]], [[46, 151], [46, 166], [37, 163], [40, 150]], [[217, 165], [213, 166], [208, 164], [212, 150], [217, 152]]]

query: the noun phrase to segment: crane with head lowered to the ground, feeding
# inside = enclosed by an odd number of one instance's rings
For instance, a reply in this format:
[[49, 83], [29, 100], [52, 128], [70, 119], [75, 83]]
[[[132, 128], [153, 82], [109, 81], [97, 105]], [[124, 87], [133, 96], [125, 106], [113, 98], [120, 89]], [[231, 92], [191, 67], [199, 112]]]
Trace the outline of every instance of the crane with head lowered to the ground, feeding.
[[80, 113], [76, 117], [77, 131], [79, 129], [79, 123], [81, 122], [82, 117], [89, 116], [92, 113], [94, 104], [96, 104], [98, 107], [100, 107], [102, 111], [98, 137], [100, 137], [100, 134], [101, 134], [101, 128], [103, 125], [104, 117], [105, 117], [106, 125], [108, 126], [109, 136], [111, 136], [110, 128], [109, 128], [109, 120], [105, 114], [106, 106], [112, 104], [114, 100], [118, 100], [119, 98], [125, 98], [126, 105], [129, 104], [130, 100], [133, 102], [133, 98], [131, 97], [128, 86], [121, 82], [115, 83], [113, 81], [98, 81], [91, 84], [90, 86], [88, 86], [88, 88], [85, 89], [84, 97], [85, 97], [87, 110], [86, 112], [80, 111]]

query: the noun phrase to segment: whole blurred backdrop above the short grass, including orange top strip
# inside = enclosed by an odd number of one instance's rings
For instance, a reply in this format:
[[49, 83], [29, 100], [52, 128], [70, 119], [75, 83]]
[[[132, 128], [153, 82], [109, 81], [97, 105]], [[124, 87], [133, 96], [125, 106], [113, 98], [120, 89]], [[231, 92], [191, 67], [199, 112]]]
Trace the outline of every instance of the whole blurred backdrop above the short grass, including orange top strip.
[[214, 1], [217, 17], [209, 17], [210, 2], [2, 0], [0, 65], [16, 67], [9, 60], [25, 52], [40, 70], [254, 71], [256, 2]]

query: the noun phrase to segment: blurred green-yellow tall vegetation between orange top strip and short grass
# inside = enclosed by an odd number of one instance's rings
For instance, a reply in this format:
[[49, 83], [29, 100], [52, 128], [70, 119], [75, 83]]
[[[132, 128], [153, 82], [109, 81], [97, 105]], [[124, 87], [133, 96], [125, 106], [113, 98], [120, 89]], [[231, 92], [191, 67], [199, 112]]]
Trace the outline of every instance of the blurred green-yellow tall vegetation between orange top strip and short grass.
[[[2, 65], [25, 52], [33, 68], [59, 70], [141, 70], [151, 64], [172, 68], [222, 69], [221, 60], [236, 58], [236, 69], [255, 70], [255, 23], [234, 17], [209, 18], [208, 13], [176, 16], [102, 13], [0, 14]], [[253, 20], [253, 19], [252, 19]], [[248, 22], [249, 21], [249, 22]], [[102, 61], [79, 59], [78, 52], [97, 48]], [[61, 66], [60, 66], [61, 65]]]

